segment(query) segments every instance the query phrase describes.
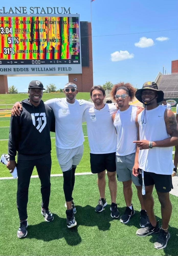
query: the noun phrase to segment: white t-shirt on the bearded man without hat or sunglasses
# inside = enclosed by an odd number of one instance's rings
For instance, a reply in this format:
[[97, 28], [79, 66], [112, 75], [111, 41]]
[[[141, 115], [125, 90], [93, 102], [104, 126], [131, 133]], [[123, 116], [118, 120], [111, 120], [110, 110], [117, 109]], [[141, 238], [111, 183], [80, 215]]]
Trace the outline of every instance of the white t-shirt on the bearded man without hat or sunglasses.
[[116, 152], [117, 135], [113, 125], [112, 115], [116, 112], [113, 104], [105, 104], [98, 110], [94, 106], [87, 108], [83, 121], [87, 123], [90, 153], [108, 154]]

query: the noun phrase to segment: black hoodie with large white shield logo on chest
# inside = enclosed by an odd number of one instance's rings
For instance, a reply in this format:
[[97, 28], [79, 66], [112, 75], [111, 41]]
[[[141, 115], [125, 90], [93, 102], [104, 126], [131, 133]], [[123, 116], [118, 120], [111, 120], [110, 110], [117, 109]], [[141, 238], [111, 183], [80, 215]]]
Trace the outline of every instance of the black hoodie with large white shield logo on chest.
[[11, 116], [8, 141], [10, 160], [31, 160], [51, 152], [50, 131], [55, 131], [55, 117], [52, 109], [41, 100], [35, 107], [29, 99], [22, 101], [20, 116]]

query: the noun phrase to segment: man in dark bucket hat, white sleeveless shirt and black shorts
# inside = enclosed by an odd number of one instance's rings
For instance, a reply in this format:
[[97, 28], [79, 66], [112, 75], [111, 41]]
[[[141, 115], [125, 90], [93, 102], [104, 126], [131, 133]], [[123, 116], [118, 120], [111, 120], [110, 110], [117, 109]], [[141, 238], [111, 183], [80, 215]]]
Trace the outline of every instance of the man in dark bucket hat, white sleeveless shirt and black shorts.
[[[164, 93], [158, 90], [155, 82], [146, 82], [136, 91], [135, 97], [145, 105], [136, 117], [140, 139], [133, 141], [136, 151], [133, 175], [139, 176], [142, 185], [143, 201], [148, 213], [149, 224], [137, 230], [138, 236], [159, 233], [154, 248], [163, 249], [170, 238], [168, 225], [172, 213], [169, 192], [172, 186], [172, 146], [178, 144], [178, 128], [174, 113], [159, 105]], [[159, 130], [158, 130], [159, 128]], [[140, 150], [139, 150], [140, 149]], [[161, 204], [162, 226], [154, 215], [153, 187]]]

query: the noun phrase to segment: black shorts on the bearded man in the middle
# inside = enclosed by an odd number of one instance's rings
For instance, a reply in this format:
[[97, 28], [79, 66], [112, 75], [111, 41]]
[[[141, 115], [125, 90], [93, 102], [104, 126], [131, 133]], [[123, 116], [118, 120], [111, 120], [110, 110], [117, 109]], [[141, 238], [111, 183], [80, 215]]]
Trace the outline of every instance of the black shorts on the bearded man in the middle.
[[116, 171], [116, 152], [108, 154], [91, 154], [90, 166], [92, 173], [101, 173], [104, 170], [108, 172]]

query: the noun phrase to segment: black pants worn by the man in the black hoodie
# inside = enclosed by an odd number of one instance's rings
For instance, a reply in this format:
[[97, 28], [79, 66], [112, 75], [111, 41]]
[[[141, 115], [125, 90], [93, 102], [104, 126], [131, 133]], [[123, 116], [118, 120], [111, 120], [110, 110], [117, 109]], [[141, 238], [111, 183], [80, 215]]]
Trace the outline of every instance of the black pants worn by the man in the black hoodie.
[[30, 177], [36, 166], [41, 182], [42, 207], [48, 209], [51, 191], [51, 154], [33, 160], [17, 161], [17, 208], [20, 220], [27, 219], [28, 188]]

